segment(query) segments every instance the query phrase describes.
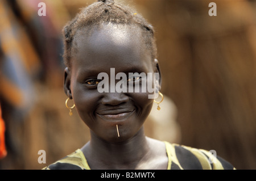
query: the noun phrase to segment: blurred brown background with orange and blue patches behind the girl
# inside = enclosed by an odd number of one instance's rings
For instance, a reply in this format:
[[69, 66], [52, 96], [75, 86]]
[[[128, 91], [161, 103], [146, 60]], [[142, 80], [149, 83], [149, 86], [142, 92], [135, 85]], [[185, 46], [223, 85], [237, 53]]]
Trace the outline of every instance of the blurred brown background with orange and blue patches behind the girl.
[[[0, 1], [0, 169], [42, 169], [89, 140], [65, 108], [61, 30], [93, 2]], [[123, 2], [156, 31], [165, 99], [148, 117], [147, 136], [256, 169], [256, 1]], [[217, 16], [209, 16], [210, 2]]]

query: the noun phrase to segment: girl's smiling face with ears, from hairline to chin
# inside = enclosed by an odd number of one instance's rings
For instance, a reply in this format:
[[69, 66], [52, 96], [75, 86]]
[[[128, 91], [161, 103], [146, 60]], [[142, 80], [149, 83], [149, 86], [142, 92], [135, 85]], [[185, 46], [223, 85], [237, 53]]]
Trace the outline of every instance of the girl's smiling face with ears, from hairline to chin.
[[[141, 81], [129, 73], [158, 72], [137, 27], [105, 25], [90, 35], [75, 35], [71, 70], [65, 69], [65, 91], [73, 98], [81, 119], [97, 137], [108, 142], [125, 141], [141, 128], [151, 111], [154, 99], [146, 92], [110, 92], [110, 68], [127, 75], [127, 84]], [[109, 91], [99, 92], [98, 74], [109, 77]], [[114, 77], [115, 77], [114, 75]], [[115, 79], [115, 83], [119, 82]], [[152, 83], [154, 85], [154, 81]], [[117, 134], [117, 127], [120, 137]]]

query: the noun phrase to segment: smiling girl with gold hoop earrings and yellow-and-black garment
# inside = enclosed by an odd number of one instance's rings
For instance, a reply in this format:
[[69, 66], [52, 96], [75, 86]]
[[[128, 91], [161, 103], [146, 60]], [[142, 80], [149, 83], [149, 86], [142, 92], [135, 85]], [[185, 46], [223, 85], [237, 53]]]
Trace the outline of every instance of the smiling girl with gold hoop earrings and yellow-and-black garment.
[[[98, 90], [102, 81], [106, 83], [106, 77], [98, 75], [111, 78], [113, 69], [115, 74], [127, 75], [122, 86], [146, 81], [160, 90], [154, 30], [141, 15], [113, 0], [102, 0], [82, 9], [63, 33], [66, 106], [71, 114], [76, 108], [91, 138], [44, 169], [233, 169], [209, 151], [146, 137], [143, 123], [154, 103], [149, 91]], [[158, 73], [159, 77], [143, 79], [135, 73]], [[120, 79], [115, 77], [115, 83]], [[158, 93], [155, 102], [160, 109], [163, 95]], [[68, 106], [69, 99], [74, 106]]]

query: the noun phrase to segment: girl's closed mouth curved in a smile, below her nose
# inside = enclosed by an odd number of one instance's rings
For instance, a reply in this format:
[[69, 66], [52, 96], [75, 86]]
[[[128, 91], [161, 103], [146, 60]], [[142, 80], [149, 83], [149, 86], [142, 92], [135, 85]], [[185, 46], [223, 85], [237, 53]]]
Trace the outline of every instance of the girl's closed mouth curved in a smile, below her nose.
[[132, 115], [133, 111], [106, 111], [104, 113], [96, 113], [98, 116], [100, 116], [102, 119], [107, 121], [116, 121], [116, 120], [126, 120], [130, 115]]

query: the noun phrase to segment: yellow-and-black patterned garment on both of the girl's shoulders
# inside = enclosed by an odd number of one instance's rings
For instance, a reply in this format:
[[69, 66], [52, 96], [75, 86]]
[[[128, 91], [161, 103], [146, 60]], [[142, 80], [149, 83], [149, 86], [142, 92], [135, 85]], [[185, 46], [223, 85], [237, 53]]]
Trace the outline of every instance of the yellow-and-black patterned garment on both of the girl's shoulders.
[[[166, 144], [166, 153], [168, 155], [167, 170], [233, 170], [235, 169], [229, 162], [220, 157], [210, 161], [212, 153], [203, 149], [191, 148], [189, 146]], [[90, 170], [86, 158], [80, 149], [72, 154], [44, 167], [45, 170]]]

